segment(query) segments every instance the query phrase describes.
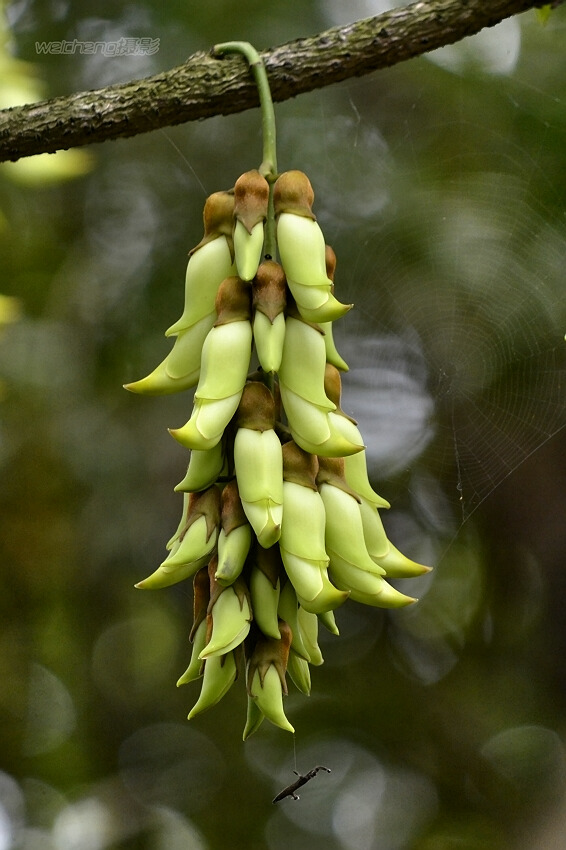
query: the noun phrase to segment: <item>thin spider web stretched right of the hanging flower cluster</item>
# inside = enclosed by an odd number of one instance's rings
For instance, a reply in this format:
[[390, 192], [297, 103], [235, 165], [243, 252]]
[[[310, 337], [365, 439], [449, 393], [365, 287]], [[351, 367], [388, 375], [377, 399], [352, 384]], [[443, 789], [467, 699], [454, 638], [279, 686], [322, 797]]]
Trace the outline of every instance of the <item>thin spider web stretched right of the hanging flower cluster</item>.
[[[563, 119], [544, 117], [545, 103], [566, 101], [514, 79], [498, 96], [512, 127], [533, 97], [543, 104], [534, 143], [466, 107], [458, 120], [416, 109], [392, 148], [368, 86], [348, 87], [341, 123], [320, 106], [325, 196], [346, 167], [354, 186], [321, 215], [337, 243], [337, 293], [355, 303], [335, 326], [351, 367], [344, 406], [377, 482], [418, 461], [464, 522], [566, 424], [566, 231], [546, 167], [566, 134]], [[436, 165], [422, 156], [430, 135]]]

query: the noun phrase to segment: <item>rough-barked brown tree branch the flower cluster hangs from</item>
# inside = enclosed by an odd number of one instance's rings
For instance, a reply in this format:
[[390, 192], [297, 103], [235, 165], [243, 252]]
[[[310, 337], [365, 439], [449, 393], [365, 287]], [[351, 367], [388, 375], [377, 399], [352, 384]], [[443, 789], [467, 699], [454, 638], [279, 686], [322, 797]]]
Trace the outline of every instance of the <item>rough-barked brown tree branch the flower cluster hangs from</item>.
[[[562, 2], [562, 0], [559, 0]], [[422, 0], [263, 51], [286, 100], [452, 44], [544, 0]], [[258, 105], [241, 57], [199, 52], [170, 71], [0, 112], [0, 162], [127, 138]]]

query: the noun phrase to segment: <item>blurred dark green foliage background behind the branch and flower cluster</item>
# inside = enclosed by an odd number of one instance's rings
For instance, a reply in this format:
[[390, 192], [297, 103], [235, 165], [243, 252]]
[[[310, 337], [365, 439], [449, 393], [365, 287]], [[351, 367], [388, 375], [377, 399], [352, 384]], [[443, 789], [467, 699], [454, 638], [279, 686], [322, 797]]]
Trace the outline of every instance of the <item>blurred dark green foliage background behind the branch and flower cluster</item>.
[[[384, 5], [24, 0], [5, 61], [53, 96]], [[345, 408], [390, 537], [436, 567], [410, 611], [338, 612], [312, 697], [290, 693], [298, 769], [332, 768], [300, 803], [270, 802], [290, 736], [241, 742], [241, 679], [185, 721], [190, 587], [133, 590], [177, 525], [187, 457], [166, 428], [191, 402], [121, 384], [169, 350], [204, 199], [258, 165], [258, 114], [76, 151], [69, 170], [0, 167], [0, 292], [19, 305], [0, 302], [0, 847], [559, 846], [565, 27], [563, 9], [527, 13], [277, 107], [280, 167], [309, 174], [356, 304], [335, 331]], [[35, 48], [146, 36], [153, 56]]]

